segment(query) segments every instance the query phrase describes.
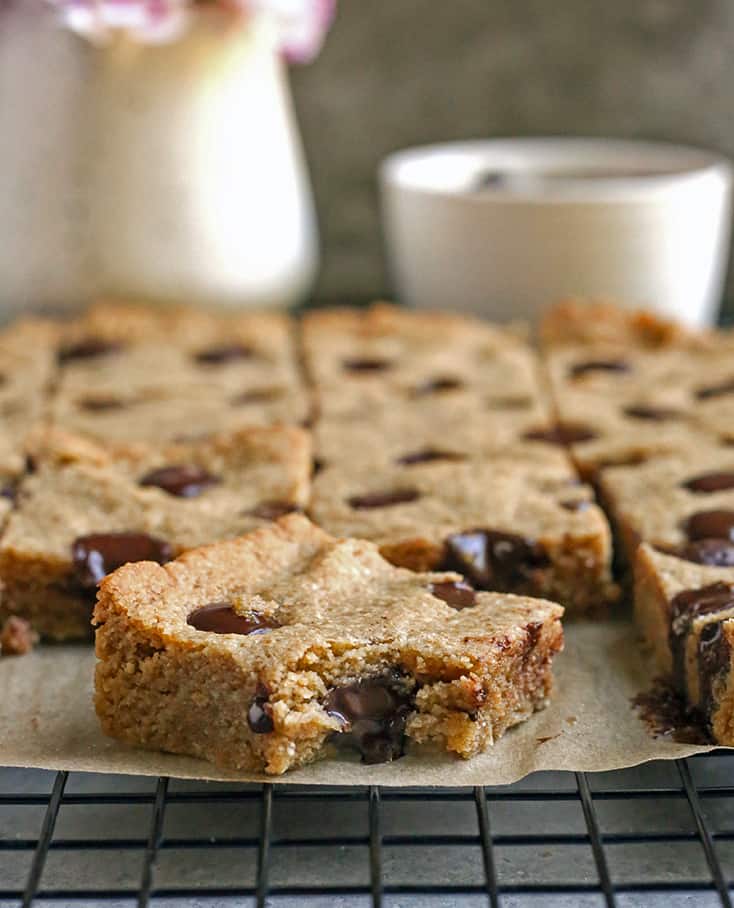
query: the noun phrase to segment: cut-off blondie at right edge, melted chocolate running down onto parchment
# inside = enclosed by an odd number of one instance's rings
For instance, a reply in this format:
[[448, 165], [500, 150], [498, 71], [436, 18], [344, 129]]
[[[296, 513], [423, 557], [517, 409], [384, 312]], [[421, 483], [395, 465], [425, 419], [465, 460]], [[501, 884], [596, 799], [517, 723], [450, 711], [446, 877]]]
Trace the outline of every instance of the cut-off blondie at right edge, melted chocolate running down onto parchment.
[[[732, 546], [722, 551], [731, 553]], [[643, 544], [635, 563], [635, 615], [660, 669], [715, 741], [734, 745], [734, 559], [699, 563]]]

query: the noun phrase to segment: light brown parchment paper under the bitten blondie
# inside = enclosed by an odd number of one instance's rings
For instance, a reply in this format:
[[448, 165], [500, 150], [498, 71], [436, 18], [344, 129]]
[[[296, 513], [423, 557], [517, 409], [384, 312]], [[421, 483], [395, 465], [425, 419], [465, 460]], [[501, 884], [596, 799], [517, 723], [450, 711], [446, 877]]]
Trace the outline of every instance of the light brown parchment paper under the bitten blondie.
[[0, 764], [301, 785], [462, 786], [514, 782], [541, 769], [620, 769], [712, 749], [654, 738], [638, 718], [630, 698], [649, 688], [654, 669], [627, 619], [568, 624], [548, 709], [468, 761], [424, 752], [363, 766], [340, 754], [272, 777], [136, 750], [99, 730], [91, 702], [93, 665], [87, 646], [40, 647], [28, 656], [0, 658]]

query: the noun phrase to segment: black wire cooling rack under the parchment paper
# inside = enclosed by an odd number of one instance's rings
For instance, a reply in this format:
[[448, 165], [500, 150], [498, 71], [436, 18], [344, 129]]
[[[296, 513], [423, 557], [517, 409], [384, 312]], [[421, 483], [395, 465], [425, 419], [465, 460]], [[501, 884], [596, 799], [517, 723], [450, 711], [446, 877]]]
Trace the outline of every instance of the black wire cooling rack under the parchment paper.
[[475, 789], [0, 769], [0, 908], [731, 905], [734, 755]]

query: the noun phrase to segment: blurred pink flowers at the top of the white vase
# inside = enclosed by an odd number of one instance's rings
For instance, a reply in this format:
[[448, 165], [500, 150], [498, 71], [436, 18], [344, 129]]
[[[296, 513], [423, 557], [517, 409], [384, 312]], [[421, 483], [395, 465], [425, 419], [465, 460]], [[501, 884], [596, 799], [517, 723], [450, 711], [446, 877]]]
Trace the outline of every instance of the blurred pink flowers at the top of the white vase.
[[307, 63], [318, 54], [334, 17], [336, 0], [50, 0], [69, 28], [90, 41], [104, 43], [125, 31], [158, 44], [175, 41], [189, 25], [198, 4], [223, 11], [271, 17], [288, 60]]

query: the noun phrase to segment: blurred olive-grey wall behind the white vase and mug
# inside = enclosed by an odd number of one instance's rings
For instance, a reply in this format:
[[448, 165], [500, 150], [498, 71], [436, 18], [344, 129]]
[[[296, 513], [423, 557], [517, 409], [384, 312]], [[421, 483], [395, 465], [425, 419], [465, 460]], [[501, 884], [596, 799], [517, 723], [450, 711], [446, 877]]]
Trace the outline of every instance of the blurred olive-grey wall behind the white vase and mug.
[[328, 300], [389, 289], [375, 169], [397, 148], [585, 134], [734, 155], [732, 0], [341, 0], [292, 76]]

